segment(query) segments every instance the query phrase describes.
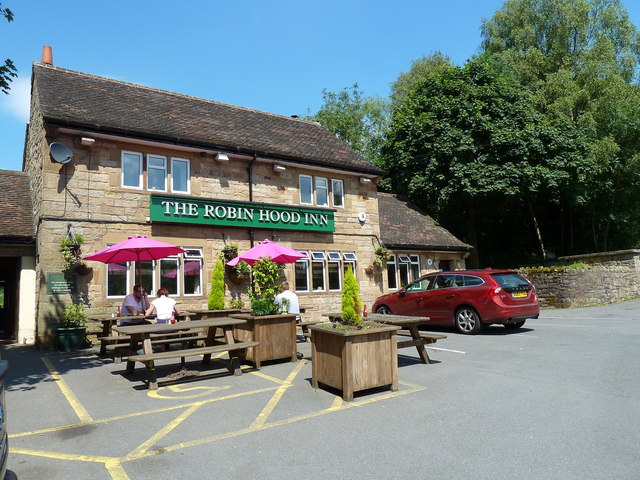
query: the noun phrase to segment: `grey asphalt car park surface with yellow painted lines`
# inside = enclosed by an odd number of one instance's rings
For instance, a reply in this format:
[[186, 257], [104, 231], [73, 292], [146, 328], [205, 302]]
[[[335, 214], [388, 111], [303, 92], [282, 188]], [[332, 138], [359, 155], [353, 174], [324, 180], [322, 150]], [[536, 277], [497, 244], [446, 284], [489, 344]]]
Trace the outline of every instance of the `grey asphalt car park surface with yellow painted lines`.
[[[636, 479], [640, 301], [448, 331], [343, 402], [305, 358], [153, 394], [97, 356], [5, 346], [18, 478]], [[169, 368], [169, 367], [167, 367]]]

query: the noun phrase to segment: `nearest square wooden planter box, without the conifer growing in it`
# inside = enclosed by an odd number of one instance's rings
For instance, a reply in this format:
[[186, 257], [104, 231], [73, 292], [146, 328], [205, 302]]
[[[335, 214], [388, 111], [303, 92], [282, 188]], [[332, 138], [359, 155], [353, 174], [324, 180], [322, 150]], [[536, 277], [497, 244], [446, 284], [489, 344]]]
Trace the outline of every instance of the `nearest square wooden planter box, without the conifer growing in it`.
[[312, 325], [312, 385], [324, 383], [342, 390], [345, 401], [353, 392], [391, 386], [398, 390], [398, 354], [395, 325], [367, 330], [338, 330]]

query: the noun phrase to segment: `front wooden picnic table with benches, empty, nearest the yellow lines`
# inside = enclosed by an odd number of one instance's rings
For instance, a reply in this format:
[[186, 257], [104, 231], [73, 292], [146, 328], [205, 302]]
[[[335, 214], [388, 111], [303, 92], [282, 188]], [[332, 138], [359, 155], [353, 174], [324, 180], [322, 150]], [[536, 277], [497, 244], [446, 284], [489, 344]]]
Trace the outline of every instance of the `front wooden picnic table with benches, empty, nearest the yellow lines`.
[[[114, 326], [113, 330], [121, 335], [128, 335], [130, 337], [129, 349], [132, 352], [136, 352], [139, 349], [139, 345], [142, 345], [142, 354], [131, 355], [127, 358], [127, 374], [133, 373], [136, 361], [143, 363], [147, 368], [149, 389], [157, 390], [158, 383], [154, 360], [180, 358], [181, 365], [184, 365], [185, 357], [204, 355], [203, 363], [207, 364], [211, 360], [212, 353], [229, 352], [229, 370], [235, 375], [242, 374], [238, 359], [239, 352], [246, 348], [258, 345], [257, 342], [235, 342], [233, 337], [233, 327], [242, 325], [243, 323], [245, 323], [244, 320], [220, 317], [171, 324], [153, 323], [144, 325], [118, 325]], [[167, 330], [186, 331], [192, 329], [202, 329], [207, 332], [204, 347], [185, 348], [182, 350], [157, 353], [153, 352], [151, 340], [151, 336], [153, 334], [165, 332]], [[216, 338], [216, 331], [218, 329], [222, 329], [223, 331], [222, 341]]]

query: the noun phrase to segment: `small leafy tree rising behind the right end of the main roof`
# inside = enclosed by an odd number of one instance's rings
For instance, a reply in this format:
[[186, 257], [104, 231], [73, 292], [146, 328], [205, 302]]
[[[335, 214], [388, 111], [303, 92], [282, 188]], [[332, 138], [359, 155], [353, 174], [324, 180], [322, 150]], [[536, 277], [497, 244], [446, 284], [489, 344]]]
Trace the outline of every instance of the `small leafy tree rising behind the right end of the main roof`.
[[305, 117], [318, 122], [370, 162], [380, 153], [389, 122], [388, 103], [378, 97], [364, 97], [358, 84], [338, 93], [322, 91], [323, 105]]

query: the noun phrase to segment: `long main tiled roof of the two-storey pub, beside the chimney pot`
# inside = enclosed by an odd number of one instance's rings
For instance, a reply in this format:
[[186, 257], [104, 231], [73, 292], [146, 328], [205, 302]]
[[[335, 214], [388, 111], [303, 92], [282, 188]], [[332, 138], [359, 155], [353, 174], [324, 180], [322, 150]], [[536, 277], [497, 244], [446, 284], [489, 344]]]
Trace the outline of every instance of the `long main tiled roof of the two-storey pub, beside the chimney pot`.
[[383, 175], [314, 122], [34, 63], [50, 122]]

